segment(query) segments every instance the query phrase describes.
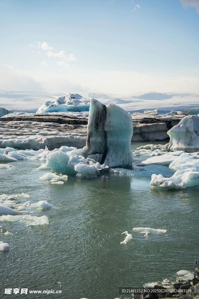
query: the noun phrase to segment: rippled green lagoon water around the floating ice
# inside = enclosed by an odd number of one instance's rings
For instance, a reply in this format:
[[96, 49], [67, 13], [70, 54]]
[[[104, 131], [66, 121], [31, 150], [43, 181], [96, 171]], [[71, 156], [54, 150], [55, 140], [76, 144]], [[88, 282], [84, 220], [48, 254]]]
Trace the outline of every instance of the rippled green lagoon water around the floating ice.
[[[135, 163], [145, 158], [135, 158]], [[0, 252], [0, 298], [113, 299], [119, 297], [118, 286], [141, 287], [182, 269], [194, 270], [198, 189], [151, 189], [150, 177], [114, 173], [91, 180], [69, 176], [63, 185], [52, 185], [38, 180], [47, 172], [35, 171], [41, 162], [13, 165], [0, 170], [0, 194], [28, 193], [32, 203], [47, 200], [53, 208], [32, 214], [46, 215], [48, 226], [0, 223], [13, 233], [0, 238], [10, 245], [9, 251]], [[146, 239], [134, 227], [167, 233]], [[133, 239], [120, 244], [126, 230]], [[5, 288], [15, 287], [62, 294], [4, 295]]]

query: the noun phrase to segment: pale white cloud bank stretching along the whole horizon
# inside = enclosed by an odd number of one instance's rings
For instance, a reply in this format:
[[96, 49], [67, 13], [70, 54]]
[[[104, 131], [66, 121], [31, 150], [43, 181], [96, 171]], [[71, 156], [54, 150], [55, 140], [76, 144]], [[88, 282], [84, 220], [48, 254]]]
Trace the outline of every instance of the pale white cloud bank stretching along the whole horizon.
[[112, 71], [103, 73], [25, 73], [0, 64], [0, 89], [16, 91], [78, 92], [113, 94], [135, 92], [198, 92], [199, 77], [171, 77], [158, 74]]

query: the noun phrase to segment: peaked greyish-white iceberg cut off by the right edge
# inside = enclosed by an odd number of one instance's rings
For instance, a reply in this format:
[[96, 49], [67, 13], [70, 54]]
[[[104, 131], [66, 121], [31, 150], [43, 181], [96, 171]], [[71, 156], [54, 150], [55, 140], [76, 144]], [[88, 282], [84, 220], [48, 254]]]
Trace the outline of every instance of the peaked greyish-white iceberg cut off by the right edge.
[[169, 143], [162, 147], [166, 151], [199, 151], [199, 117], [188, 115], [168, 132]]

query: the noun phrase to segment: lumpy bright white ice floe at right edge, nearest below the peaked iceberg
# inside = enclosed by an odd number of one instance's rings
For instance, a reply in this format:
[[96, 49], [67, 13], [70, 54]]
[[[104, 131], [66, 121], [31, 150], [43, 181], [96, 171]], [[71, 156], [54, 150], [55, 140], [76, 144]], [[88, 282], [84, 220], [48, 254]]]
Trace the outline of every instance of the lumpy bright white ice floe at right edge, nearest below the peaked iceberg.
[[176, 172], [171, 177], [153, 174], [150, 186], [185, 189], [199, 185], [199, 159], [195, 159], [187, 153], [182, 153], [169, 165], [169, 168]]

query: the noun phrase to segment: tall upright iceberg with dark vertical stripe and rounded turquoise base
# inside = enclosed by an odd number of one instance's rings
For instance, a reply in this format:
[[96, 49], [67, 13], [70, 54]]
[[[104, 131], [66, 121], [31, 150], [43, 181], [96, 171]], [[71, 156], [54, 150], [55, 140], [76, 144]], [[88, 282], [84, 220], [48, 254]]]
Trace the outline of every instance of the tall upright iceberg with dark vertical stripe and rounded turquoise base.
[[82, 149], [61, 147], [47, 155], [53, 172], [93, 178], [109, 167], [132, 167], [132, 118], [122, 108], [91, 99], [87, 144]]

